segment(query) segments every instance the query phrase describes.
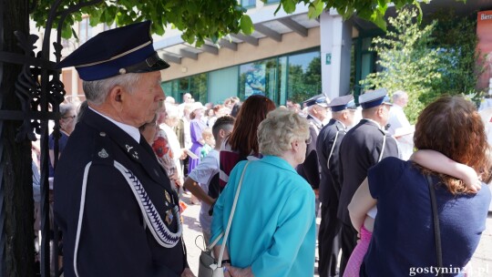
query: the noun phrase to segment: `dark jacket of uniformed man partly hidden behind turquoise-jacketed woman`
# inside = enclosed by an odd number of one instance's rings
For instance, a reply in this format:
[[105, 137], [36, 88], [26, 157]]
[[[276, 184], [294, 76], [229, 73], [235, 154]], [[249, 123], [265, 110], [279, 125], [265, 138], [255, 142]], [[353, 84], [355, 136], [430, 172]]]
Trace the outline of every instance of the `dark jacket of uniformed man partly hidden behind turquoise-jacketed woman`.
[[311, 143], [306, 146], [306, 159], [302, 164], [297, 166], [296, 170], [302, 178], [308, 181], [313, 190], [317, 190], [320, 187], [321, 169], [318, 162], [318, 155], [316, 154], [316, 140], [323, 126], [310, 115], [308, 115], [307, 119], [310, 123], [309, 134], [311, 136]]

